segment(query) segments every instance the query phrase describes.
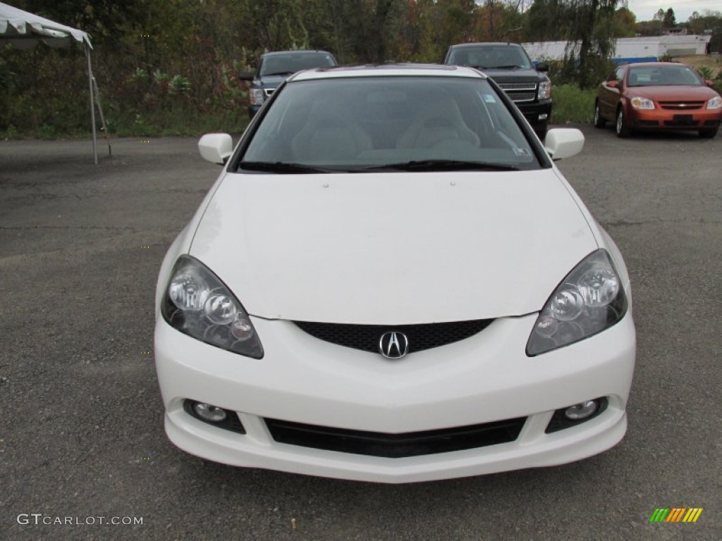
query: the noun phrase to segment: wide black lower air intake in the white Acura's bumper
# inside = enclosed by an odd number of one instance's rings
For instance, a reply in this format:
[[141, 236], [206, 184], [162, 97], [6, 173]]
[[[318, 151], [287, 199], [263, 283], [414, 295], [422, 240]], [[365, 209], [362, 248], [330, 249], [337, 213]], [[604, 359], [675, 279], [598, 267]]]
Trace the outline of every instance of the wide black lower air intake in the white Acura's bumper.
[[526, 418], [405, 434], [386, 434], [266, 419], [282, 444], [370, 457], [405, 458], [505, 444], [518, 438]]

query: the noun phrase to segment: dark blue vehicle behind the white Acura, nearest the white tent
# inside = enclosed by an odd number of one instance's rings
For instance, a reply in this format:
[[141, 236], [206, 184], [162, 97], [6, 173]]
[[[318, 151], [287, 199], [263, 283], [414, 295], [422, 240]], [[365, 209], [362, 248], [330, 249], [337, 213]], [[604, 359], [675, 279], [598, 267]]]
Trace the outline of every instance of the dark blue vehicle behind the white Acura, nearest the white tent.
[[336, 58], [325, 50], [279, 50], [261, 55], [256, 71], [243, 71], [239, 78], [251, 81], [248, 97], [248, 118], [258, 113], [266, 98], [273, 94], [279, 84], [296, 71], [337, 66]]

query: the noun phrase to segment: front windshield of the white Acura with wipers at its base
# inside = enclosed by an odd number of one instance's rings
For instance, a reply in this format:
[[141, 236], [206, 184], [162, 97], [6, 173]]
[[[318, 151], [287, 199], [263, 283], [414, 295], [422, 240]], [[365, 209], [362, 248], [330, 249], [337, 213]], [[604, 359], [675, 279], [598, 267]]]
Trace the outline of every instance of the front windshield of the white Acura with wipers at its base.
[[539, 169], [484, 79], [383, 76], [288, 83], [239, 167], [273, 172]]

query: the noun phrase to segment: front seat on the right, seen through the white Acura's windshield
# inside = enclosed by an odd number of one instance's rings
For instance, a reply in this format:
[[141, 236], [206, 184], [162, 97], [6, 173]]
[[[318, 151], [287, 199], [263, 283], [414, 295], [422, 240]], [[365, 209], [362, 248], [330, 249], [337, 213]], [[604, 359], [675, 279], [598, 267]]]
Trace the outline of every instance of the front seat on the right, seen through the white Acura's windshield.
[[440, 97], [422, 107], [422, 113], [399, 136], [396, 148], [427, 149], [449, 139], [479, 146], [479, 137], [466, 126], [456, 102]]

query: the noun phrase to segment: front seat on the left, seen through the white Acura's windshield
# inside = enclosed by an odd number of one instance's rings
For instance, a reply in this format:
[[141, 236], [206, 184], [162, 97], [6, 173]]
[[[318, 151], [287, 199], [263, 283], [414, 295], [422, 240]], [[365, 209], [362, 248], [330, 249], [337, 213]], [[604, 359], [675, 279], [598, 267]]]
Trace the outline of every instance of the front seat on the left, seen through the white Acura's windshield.
[[344, 162], [373, 148], [370, 136], [358, 126], [347, 107], [318, 101], [308, 122], [291, 141], [298, 162]]

